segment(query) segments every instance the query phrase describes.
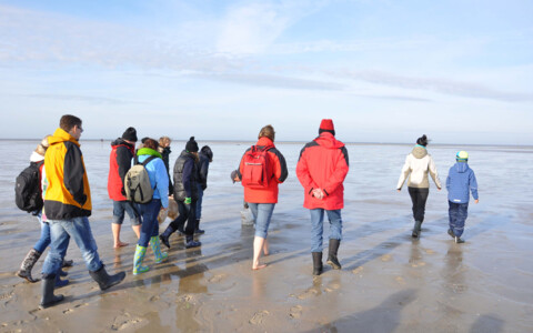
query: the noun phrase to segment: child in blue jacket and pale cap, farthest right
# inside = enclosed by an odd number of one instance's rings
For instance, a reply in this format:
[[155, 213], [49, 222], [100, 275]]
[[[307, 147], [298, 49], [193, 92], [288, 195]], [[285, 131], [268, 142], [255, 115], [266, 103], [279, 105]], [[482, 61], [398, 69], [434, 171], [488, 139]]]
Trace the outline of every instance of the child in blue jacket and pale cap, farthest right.
[[461, 239], [464, 230], [464, 222], [469, 215], [470, 193], [474, 202], [479, 203], [477, 181], [472, 169], [469, 168], [469, 153], [460, 151], [455, 155], [455, 165], [450, 168], [446, 178], [447, 204], [450, 206], [450, 229], [447, 234], [455, 240], [455, 243], [464, 243]]

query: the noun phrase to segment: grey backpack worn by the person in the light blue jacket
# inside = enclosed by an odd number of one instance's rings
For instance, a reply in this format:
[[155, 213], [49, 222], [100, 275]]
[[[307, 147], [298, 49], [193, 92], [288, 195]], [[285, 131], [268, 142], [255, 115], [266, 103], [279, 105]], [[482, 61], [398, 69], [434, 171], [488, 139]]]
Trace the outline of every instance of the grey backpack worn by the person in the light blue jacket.
[[124, 176], [125, 198], [135, 203], [147, 203], [152, 200], [153, 189], [150, 184], [148, 171], [144, 168], [157, 157], [150, 157], [144, 162], [139, 163], [138, 157], [133, 159], [133, 167], [130, 168]]

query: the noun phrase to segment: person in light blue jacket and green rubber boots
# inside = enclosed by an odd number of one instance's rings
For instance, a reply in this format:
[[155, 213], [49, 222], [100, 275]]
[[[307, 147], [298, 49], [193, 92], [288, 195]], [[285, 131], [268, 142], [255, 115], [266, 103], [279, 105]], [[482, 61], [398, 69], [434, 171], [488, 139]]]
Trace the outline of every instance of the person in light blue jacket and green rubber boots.
[[151, 245], [155, 255], [155, 263], [161, 263], [168, 258], [167, 252], [161, 252], [158, 215], [161, 209], [169, 206], [169, 176], [161, 154], [158, 152], [158, 142], [153, 139], [144, 140], [143, 148], [137, 151], [134, 161], [145, 162], [144, 169], [153, 189], [152, 200], [139, 204], [142, 216], [141, 236], [133, 256], [133, 275], [138, 275], [149, 271], [148, 266], [142, 265], [148, 244]]

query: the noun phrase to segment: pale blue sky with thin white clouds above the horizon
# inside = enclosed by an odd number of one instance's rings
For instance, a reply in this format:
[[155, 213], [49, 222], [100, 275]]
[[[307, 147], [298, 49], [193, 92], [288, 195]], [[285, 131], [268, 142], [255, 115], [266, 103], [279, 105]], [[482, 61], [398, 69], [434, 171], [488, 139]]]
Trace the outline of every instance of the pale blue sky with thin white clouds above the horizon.
[[533, 1], [0, 0], [0, 138], [533, 144]]

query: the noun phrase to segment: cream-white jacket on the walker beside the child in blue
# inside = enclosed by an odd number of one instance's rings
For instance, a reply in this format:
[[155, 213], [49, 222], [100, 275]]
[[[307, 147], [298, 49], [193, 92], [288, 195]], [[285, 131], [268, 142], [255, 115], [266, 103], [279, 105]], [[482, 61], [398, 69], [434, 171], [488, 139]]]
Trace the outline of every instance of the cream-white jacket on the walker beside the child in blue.
[[[46, 162], [44, 162], [44, 165]], [[428, 173], [435, 182], [438, 189], [442, 188], [439, 173], [436, 172], [436, 165], [433, 158], [428, 153], [424, 147], [416, 145], [413, 151], [405, 158], [400, 179], [398, 180], [396, 189], [401, 190], [405, 179], [409, 176], [408, 186], [429, 189], [430, 181]]]

